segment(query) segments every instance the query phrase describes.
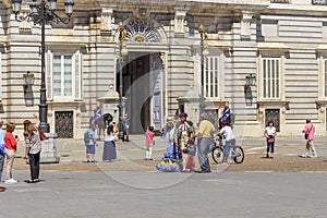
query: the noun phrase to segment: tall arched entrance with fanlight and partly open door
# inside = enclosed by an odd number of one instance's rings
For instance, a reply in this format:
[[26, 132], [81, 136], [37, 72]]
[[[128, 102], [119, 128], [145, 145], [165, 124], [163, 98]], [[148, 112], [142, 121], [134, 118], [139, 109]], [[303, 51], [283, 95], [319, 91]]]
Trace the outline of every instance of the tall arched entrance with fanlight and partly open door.
[[[164, 70], [157, 47], [167, 44], [165, 31], [155, 20], [145, 16], [130, 17], [123, 26], [128, 49], [132, 45], [134, 48], [133, 51], [129, 49], [122, 69], [123, 97], [126, 98], [124, 111], [130, 118], [130, 133], [143, 134], [149, 125], [160, 130], [164, 122]], [[119, 78], [119, 69], [117, 72]], [[116, 81], [119, 92], [119, 80]]]

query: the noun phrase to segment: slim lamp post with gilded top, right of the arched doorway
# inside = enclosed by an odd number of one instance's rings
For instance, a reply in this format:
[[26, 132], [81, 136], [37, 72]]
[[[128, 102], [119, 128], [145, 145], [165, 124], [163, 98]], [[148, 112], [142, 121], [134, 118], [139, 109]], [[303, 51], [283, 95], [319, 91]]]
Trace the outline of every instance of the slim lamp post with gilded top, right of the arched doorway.
[[204, 112], [205, 109], [205, 93], [204, 93], [204, 61], [205, 58], [209, 55], [208, 51], [208, 34], [203, 31], [203, 25], [199, 25], [198, 27], [199, 32], [199, 39], [201, 39], [201, 46], [199, 46], [199, 52], [201, 52], [201, 98], [199, 98], [199, 114]]

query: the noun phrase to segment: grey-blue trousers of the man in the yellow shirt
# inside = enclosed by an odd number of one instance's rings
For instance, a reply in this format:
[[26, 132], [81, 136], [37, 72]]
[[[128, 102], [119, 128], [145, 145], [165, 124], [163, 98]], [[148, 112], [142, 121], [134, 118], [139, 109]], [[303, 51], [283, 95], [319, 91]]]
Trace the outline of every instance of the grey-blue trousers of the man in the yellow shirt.
[[207, 137], [202, 137], [197, 140], [197, 157], [201, 169], [203, 171], [210, 171], [210, 164], [208, 159], [208, 152], [210, 147], [211, 141]]

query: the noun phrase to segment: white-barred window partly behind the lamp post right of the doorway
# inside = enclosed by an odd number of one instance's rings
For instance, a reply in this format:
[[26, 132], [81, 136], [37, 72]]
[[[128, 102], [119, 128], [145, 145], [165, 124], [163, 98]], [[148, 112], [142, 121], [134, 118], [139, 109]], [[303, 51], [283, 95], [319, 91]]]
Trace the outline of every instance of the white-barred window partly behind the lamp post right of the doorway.
[[219, 57], [206, 58], [204, 93], [207, 99], [219, 98]]

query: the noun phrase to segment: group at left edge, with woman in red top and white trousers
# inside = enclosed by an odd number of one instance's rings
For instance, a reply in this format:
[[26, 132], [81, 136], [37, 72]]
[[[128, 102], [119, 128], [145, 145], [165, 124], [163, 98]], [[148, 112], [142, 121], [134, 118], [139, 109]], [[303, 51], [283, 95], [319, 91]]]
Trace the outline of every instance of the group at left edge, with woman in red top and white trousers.
[[[36, 117], [36, 116], [35, 116]], [[37, 117], [36, 117], [37, 118]], [[31, 179], [27, 183], [39, 182], [39, 160], [41, 152], [39, 122], [32, 123], [31, 120], [25, 120], [24, 125], [24, 142], [25, 142], [25, 158], [29, 164]], [[12, 168], [17, 150], [17, 143], [20, 141], [17, 135], [14, 135], [15, 124], [13, 122], [7, 123], [5, 133], [2, 130], [3, 121], [0, 119], [0, 180], [2, 181], [2, 171], [5, 158], [5, 175], [4, 183], [15, 184], [19, 181], [13, 178]]]

